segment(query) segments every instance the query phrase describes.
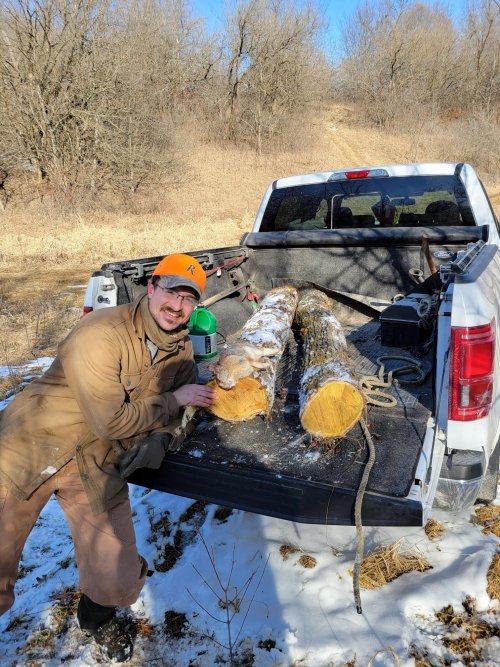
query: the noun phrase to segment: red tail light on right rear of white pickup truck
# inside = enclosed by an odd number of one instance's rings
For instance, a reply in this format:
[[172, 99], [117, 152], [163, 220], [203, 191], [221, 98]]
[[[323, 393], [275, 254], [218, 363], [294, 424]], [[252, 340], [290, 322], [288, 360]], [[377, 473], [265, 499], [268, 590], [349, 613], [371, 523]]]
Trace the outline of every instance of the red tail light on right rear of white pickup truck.
[[478, 327], [452, 327], [448, 418], [486, 417], [493, 401], [495, 320]]

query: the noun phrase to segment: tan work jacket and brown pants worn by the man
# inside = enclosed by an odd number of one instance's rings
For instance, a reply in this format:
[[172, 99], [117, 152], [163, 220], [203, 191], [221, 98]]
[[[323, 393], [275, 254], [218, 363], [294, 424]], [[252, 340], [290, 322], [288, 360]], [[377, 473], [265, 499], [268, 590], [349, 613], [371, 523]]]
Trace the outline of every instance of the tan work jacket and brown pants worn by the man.
[[[71, 528], [82, 592], [116, 607], [139, 595], [147, 564], [116, 463], [147, 433], [177, 427], [172, 392], [195, 382], [187, 330], [159, 329], [147, 303], [87, 315], [43, 377], [0, 413], [0, 614], [14, 603], [25, 541], [52, 493]], [[160, 342], [153, 362], [146, 335]]]

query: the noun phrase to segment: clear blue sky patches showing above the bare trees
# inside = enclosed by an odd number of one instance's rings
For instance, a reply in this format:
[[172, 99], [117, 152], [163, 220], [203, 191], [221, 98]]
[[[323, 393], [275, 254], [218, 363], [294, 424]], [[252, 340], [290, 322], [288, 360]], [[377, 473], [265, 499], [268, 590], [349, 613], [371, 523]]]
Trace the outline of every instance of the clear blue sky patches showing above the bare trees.
[[[235, 0], [191, 0], [193, 13], [202, 16], [208, 30], [216, 30], [223, 25], [225, 8], [232, 6]], [[435, 0], [420, 0], [427, 5], [437, 4]], [[466, 6], [467, 0], [443, 0], [439, 4], [446, 6], [454, 20], [458, 20]], [[331, 55], [335, 54], [335, 45], [340, 45], [342, 25], [346, 18], [352, 16], [358, 5], [364, 0], [316, 0], [316, 6], [325, 16], [329, 28], [322, 40], [324, 47]]]

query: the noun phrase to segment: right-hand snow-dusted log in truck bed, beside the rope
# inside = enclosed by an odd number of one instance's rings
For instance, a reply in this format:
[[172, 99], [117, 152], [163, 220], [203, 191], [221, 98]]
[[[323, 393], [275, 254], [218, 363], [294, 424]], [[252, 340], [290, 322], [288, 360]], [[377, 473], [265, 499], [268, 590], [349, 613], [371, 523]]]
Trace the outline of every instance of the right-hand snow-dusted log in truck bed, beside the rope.
[[365, 406], [332, 306], [323, 292], [306, 290], [295, 314], [303, 344], [300, 421], [306, 431], [319, 438], [345, 435], [358, 422]]

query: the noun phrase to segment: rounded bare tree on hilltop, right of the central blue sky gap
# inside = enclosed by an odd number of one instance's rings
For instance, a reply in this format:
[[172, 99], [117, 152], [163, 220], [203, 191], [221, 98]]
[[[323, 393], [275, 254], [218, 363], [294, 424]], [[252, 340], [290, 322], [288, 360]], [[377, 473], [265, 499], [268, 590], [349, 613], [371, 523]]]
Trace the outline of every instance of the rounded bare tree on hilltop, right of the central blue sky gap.
[[439, 7], [366, 2], [344, 26], [340, 86], [381, 125], [425, 109], [435, 117], [456, 96], [456, 33]]

